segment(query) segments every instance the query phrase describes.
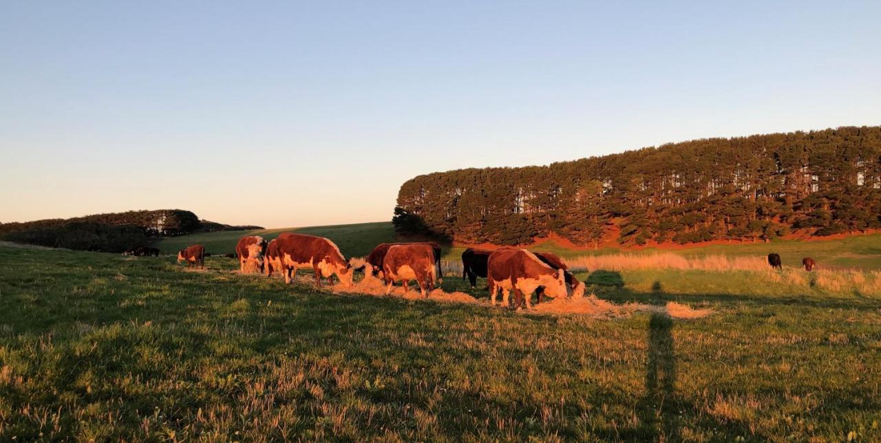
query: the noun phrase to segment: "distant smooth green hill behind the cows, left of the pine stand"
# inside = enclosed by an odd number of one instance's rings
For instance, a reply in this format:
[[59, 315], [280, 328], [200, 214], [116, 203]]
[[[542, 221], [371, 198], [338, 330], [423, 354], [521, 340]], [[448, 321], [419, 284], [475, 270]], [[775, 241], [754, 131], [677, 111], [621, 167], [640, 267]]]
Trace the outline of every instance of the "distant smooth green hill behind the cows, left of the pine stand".
[[176, 254], [177, 251], [184, 247], [200, 244], [211, 254], [228, 254], [235, 252], [236, 242], [244, 235], [260, 235], [266, 240], [272, 240], [278, 237], [279, 233], [285, 232], [307, 233], [327, 237], [337, 243], [340, 251], [347, 257], [367, 255], [374, 246], [382, 242], [394, 241], [395, 239], [395, 229], [391, 222], [374, 222], [354, 225], [196, 233], [160, 240], [156, 247], [159, 247], [165, 254]]

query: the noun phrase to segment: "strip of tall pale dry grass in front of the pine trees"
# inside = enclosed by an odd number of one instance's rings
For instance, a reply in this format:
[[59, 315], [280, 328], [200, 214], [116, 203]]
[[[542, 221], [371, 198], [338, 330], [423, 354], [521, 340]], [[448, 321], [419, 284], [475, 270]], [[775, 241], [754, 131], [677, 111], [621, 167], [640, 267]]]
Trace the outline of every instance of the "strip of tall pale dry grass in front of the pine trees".
[[678, 270], [766, 270], [768, 264], [764, 257], [727, 257], [707, 255], [704, 257], [685, 257], [676, 254], [608, 254], [582, 255], [565, 259], [570, 269], [678, 269]]

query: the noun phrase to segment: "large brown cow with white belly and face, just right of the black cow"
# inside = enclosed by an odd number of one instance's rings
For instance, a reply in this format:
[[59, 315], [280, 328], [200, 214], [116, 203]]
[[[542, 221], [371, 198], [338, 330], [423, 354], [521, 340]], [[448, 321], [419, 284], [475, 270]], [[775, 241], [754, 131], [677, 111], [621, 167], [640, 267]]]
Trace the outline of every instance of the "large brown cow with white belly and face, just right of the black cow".
[[525, 294], [526, 308], [531, 304], [532, 293], [544, 286], [549, 297], [566, 297], [565, 271], [553, 269], [525, 249], [504, 248], [493, 251], [486, 264], [486, 277], [490, 285], [490, 301], [495, 305], [496, 292], [502, 291], [502, 304], [507, 306], [508, 295]]

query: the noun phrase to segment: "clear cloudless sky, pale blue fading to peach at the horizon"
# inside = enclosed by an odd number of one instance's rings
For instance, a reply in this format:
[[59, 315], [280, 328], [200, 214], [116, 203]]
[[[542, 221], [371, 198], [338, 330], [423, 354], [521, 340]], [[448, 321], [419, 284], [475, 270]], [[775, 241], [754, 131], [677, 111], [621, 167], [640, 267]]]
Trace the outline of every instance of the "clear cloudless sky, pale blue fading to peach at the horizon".
[[881, 124], [881, 2], [0, 4], [0, 221], [389, 219], [470, 166]]

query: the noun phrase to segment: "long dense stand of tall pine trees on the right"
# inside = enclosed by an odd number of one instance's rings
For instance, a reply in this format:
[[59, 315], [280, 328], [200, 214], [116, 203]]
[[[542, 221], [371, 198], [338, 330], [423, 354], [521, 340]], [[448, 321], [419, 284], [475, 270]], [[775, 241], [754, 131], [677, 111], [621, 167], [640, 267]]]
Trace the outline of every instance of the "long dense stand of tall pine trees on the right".
[[881, 127], [709, 138], [403, 183], [399, 233], [577, 245], [770, 240], [881, 226]]

